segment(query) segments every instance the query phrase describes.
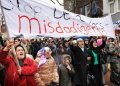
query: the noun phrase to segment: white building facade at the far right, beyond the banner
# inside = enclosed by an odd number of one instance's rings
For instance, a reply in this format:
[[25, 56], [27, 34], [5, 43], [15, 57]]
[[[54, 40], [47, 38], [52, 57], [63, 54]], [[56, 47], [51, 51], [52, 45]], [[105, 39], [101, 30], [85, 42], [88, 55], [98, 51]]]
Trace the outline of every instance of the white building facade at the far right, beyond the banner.
[[103, 0], [103, 16], [112, 16], [116, 35], [120, 39], [120, 0]]

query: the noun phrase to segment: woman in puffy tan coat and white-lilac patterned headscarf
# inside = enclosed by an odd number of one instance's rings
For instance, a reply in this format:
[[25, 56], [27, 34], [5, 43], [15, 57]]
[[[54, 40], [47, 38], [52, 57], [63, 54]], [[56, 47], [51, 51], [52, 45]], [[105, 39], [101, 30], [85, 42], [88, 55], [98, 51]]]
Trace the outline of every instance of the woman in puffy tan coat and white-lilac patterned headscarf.
[[57, 66], [51, 54], [52, 51], [49, 47], [43, 47], [37, 53], [35, 59], [38, 64], [38, 71], [35, 74], [37, 86], [52, 86], [59, 82]]

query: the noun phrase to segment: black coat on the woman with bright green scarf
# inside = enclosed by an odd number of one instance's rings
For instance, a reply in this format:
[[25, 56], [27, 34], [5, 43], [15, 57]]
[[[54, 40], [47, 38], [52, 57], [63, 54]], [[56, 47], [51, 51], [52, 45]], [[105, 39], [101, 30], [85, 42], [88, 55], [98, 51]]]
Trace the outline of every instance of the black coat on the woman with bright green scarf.
[[[102, 86], [102, 64], [104, 63], [104, 54], [102, 52], [102, 49], [105, 47], [105, 41], [102, 42], [102, 45], [99, 47], [93, 47], [93, 41], [91, 41], [90, 43], [90, 50], [89, 50], [89, 55], [91, 57], [91, 63], [90, 63], [90, 72], [93, 74], [93, 76], [95, 77], [96, 83], [95, 86]], [[94, 53], [96, 53], [97, 55], [97, 60], [98, 63], [95, 64], [95, 56]]]

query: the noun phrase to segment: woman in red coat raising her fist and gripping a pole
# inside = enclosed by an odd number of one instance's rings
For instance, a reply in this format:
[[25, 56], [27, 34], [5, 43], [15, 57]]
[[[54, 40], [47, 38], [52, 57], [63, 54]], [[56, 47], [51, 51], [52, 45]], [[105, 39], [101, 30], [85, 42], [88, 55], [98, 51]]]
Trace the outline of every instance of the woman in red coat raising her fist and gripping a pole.
[[9, 49], [12, 48], [13, 41], [6, 41], [6, 47], [0, 51], [0, 63], [6, 68], [6, 77], [4, 86], [36, 86], [34, 74], [37, 71], [36, 63], [26, 58], [23, 46], [15, 47], [16, 56], [18, 59], [17, 65], [15, 54], [8, 56]]

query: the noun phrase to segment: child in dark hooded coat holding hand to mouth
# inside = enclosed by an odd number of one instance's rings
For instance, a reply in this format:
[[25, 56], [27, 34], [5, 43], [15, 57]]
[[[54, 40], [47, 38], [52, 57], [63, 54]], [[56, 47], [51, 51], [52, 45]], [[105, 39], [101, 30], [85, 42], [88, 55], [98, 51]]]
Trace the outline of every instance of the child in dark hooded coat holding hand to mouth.
[[62, 64], [58, 66], [59, 86], [73, 86], [72, 77], [75, 73], [71, 65], [71, 56], [64, 54]]

